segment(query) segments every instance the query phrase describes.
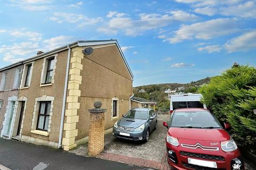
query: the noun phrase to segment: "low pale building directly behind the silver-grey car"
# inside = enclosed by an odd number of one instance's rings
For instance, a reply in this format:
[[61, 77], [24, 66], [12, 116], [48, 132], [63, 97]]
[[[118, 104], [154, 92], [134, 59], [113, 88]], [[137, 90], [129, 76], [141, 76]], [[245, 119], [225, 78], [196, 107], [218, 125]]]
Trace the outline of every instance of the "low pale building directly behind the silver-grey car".
[[132, 97], [131, 98], [131, 108], [153, 108], [155, 109], [156, 102], [147, 100], [140, 97]]

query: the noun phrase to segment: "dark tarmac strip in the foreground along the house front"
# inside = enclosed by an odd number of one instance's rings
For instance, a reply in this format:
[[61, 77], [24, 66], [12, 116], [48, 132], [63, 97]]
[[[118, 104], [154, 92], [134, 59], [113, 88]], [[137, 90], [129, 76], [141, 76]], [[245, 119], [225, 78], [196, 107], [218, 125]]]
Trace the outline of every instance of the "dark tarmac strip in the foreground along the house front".
[[60, 149], [0, 139], [1, 170], [96, 170], [96, 169], [149, 169], [113, 162], [95, 157], [83, 157]]

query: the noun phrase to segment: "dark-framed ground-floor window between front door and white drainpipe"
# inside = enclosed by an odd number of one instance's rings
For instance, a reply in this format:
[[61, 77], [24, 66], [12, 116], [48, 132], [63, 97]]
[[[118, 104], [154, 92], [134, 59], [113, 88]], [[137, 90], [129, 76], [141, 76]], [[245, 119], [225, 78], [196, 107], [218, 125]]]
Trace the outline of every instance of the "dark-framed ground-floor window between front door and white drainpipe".
[[41, 101], [39, 106], [37, 130], [48, 130], [49, 117], [50, 117], [51, 101]]

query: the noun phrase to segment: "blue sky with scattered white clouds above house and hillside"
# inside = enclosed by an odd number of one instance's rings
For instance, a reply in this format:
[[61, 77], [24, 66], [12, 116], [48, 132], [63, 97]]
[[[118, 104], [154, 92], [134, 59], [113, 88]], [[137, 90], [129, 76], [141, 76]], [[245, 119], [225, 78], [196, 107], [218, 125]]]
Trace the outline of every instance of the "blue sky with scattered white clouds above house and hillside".
[[117, 39], [133, 86], [256, 66], [256, 1], [0, 0], [0, 67], [76, 40]]

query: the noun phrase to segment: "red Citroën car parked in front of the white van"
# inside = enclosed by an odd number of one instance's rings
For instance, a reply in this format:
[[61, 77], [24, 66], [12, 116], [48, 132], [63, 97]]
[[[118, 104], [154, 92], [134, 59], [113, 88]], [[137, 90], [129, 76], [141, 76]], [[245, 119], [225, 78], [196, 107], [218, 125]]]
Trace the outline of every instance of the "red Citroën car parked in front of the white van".
[[235, 141], [204, 108], [180, 108], [167, 127], [168, 163], [174, 169], [244, 169]]

